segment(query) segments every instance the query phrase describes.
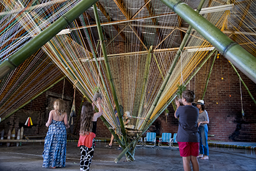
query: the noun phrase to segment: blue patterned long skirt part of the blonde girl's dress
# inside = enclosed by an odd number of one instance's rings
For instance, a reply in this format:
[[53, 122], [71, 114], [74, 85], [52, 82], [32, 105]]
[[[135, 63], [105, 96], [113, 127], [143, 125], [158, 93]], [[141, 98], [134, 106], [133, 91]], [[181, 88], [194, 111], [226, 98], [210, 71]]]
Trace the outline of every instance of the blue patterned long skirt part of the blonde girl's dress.
[[67, 132], [64, 121], [52, 120], [45, 137], [43, 167], [65, 167]]

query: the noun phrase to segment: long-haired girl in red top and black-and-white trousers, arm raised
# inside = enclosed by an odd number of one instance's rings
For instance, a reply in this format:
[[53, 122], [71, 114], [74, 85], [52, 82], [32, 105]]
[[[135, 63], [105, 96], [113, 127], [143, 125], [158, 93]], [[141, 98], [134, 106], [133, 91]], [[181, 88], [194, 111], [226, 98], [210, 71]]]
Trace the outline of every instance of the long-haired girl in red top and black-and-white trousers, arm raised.
[[98, 113], [94, 113], [94, 105], [84, 102], [81, 111], [81, 126], [78, 147], [80, 147], [80, 170], [89, 170], [95, 149], [97, 119], [102, 115], [101, 98], [97, 99]]

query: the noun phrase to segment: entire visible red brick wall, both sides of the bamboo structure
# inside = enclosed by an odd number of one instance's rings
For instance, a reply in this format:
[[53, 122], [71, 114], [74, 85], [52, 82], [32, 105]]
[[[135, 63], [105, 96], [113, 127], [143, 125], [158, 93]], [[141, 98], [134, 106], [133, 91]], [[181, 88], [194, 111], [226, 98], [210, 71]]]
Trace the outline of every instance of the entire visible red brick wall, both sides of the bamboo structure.
[[[210, 64], [211, 59], [190, 81], [190, 84], [187, 85], [188, 89], [195, 91], [195, 101], [202, 97]], [[256, 84], [242, 72], [239, 71], [239, 74], [248, 86], [252, 96], [255, 98]], [[43, 93], [31, 104], [28, 104], [23, 107], [22, 110], [17, 111], [16, 114], [7, 118], [4, 124], [0, 124], [0, 130], [5, 129], [5, 134], [7, 134], [8, 129], [13, 129], [15, 126], [17, 133], [17, 129], [24, 126], [23, 124], [27, 117], [30, 116], [34, 126], [31, 128], [25, 126], [24, 134], [46, 134], [47, 128], [45, 123], [49, 116], [46, 108], [48, 107], [49, 93], [54, 93], [55, 96], [61, 98], [63, 93], [63, 81], [58, 82], [58, 84]], [[82, 98], [83, 96], [76, 90], [75, 102], [77, 116]], [[71, 103], [73, 102], [69, 100], [73, 99], [73, 85], [70, 84], [67, 79], [64, 84], [64, 99], [67, 99], [67, 101]], [[209, 140], [256, 141], [256, 105], [242, 85], [243, 110], [245, 111], [245, 116], [242, 118], [239, 78], [228, 61], [222, 56], [217, 58], [214, 63], [204, 101], [210, 117], [210, 123], [208, 124], [209, 134], [214, 135], [214, 137], [209, 137]], [[69, 109], [67, 109], [68, 114], [70, 113], [71, 106], [72, 104], [69, 106]], [[178, 120], [173, 117], [174, 111], [172, 105], [170, 105], [168, 109], [169, 116], [164, 116], [164, 113], [161, 114], [148, 131], [157, 132], [157, 135], [161, 135], [163, 132], [172, 132], [173, 134], [178, 131]], [[73, 129], [75, 129], [77, 122], [76, 130], [73, 131], [77, 135], [80, 129], [79, 119], [80, 117], [75, 117], [73, 120]], [[96, 135], [97, 137], [106, 138], [110, 138], [111, 136], [101, 119], [98, 119]]]

